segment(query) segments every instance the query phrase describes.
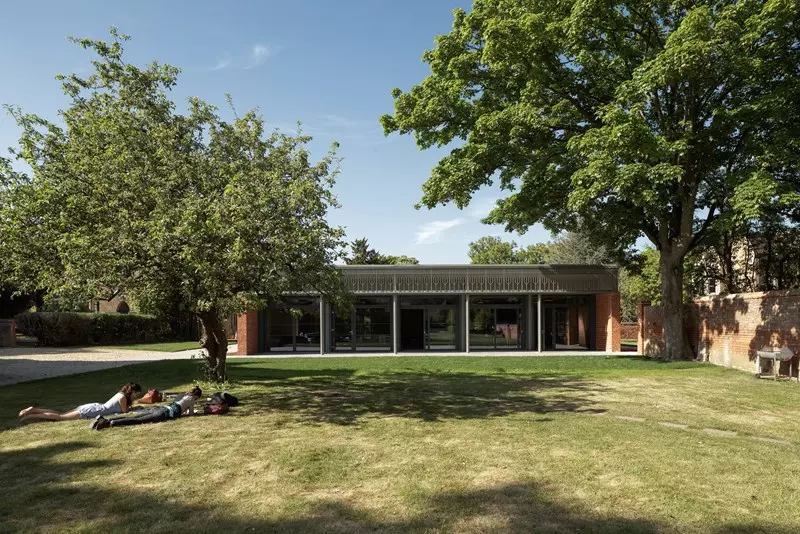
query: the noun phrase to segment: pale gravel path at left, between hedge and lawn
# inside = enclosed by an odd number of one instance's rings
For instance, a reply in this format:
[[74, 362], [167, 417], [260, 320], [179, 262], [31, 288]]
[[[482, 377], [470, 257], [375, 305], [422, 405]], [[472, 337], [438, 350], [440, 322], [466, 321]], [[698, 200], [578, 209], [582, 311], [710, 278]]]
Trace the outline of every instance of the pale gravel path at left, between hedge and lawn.
[[[233, 349], [235, 350], [235, 347]], [[181, 352], [150, 352], [91, 348], [3, 348], [0, 349], [0, 386], [136, 363], [189, 359], [196, 353], [196, 349]]]

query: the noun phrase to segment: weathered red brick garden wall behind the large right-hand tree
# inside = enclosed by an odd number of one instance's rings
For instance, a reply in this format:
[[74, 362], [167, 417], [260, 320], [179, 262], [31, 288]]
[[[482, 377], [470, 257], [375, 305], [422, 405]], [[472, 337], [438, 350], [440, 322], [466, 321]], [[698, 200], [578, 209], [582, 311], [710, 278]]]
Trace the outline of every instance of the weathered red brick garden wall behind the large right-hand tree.
[[[644, 339], [639, 353], [663, 349], [661, 308], [643, 308]], [[789, 347], [800, 354], [800, 291], [708, 296], [686, 309], [686, 329], [699, 359], [755, 371], [755, 352], [764, 346]]]

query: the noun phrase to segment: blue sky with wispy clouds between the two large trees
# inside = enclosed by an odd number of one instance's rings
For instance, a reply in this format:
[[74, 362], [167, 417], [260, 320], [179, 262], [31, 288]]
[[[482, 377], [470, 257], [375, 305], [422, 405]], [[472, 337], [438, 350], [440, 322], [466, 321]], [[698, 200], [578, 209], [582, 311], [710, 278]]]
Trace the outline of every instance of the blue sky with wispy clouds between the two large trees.
[[[342, 208], [330, 220], [349, 240], [367, 237], [386, 254], [422, 263], [467, 262], [468, 243], [504, 235], [520, 244], [547, 241], [542, 228], [523, 236], [480, 223], [499, 188], [485, 188], [464, 210], [415, 210], [421, 186], [445, 153], [420, 151], [410, 136], [383, 136], [378, 118], [392, 111], [390, 91], [427, 74], [422, 53], [447, 33], [452, 10], [468, 0], [292, 0], [261, 2], [13, 2], [0, 32], [0, 103], [54, 118], [65, 98], [54, 76], [86, 73], [91, 56], [67, 35], [105, 38], [110, 25], [133, 37], [129, 61], [157, 59], [182, 69], [174, 97], [238, 109], [258, 107], [281, 129], [297, 121], [324, 154], [339, 141]], [[0, 147], [18, 129], [0, 114]]]

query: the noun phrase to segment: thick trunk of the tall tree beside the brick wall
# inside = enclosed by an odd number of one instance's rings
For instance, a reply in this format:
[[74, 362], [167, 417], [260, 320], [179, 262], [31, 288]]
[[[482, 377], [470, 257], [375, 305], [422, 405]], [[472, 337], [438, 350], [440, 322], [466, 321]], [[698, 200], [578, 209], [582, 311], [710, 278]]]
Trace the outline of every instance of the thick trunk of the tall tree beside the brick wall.
[[683, 324], [683, 258], [661, 251], [661, 302], [664, 309], [664, 354], [668, 360], [690, 360], [694, 354]]

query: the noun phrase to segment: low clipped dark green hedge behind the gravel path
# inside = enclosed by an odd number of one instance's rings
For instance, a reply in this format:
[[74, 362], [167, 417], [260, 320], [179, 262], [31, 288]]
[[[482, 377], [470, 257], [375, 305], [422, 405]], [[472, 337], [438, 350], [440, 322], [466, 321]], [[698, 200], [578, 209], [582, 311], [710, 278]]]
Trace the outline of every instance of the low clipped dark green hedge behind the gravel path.
[[17, 315], [17, 331], [40, 346], [123, 345], [169, 341], [166, 321], [150, 315], [43, 312]]

